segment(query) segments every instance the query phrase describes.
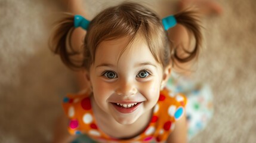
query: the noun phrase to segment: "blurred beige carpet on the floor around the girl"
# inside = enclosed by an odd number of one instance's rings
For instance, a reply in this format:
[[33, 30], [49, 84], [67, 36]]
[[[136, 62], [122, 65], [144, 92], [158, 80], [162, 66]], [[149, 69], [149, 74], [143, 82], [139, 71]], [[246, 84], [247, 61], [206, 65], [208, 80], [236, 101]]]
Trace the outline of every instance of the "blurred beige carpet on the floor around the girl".
[[[211, 85], [215, 113], [191, 142], [256, 142], [256, 2], [218, 2], [224, 14], [203, 23], [205, 48], [194, 75]], [[84, 3], [92, 18], [115, 1]], [[174, 4], [147, 3], [162, 16]], [[50, 0], [0, 1], [0, 142], [50, 142], [61, 97], [76, 91], [72, 71], [47, 46], [58, 11]]]

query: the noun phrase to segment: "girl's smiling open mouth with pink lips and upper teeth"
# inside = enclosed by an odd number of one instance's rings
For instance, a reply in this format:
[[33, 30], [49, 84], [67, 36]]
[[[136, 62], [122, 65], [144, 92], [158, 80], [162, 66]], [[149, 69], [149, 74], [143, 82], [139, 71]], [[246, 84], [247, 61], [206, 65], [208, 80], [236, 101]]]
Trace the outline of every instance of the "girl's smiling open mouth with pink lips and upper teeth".
[[121, 113], [127, 114], [127, 113], [132, 113], [135, 111], [141, 102], [133, 102], [133, 103], [128, 103], [128, 104], [121, 104], [121, 103], [113, 103], [112, 105], [116, 108]]

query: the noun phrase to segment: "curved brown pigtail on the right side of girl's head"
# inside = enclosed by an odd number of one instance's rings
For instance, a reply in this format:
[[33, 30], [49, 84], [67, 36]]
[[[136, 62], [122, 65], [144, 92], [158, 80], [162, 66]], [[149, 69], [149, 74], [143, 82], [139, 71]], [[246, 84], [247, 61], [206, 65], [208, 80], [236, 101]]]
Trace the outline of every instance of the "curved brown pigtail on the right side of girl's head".
[[202, 33], [198, 15], [194, 11], [181, 11], [180, 13], [175, 14], [174, 17], [177, 24], [181, 24], [186, 27], [186, 29], [192, 33], [193, 37], [195, 38], [195, 47], [192, 51], [182, 47], [184, 52], [188, 55], [187, 57], [179, 57], [177, 54], [177, 47], [174, 48], [174, 52], [172, 54], [172, 59], [174, 59], [174, 61], [176, 60], [179, 63], [187, 63], [197, 57], [199, 54], [199, 48], [202, 44]]

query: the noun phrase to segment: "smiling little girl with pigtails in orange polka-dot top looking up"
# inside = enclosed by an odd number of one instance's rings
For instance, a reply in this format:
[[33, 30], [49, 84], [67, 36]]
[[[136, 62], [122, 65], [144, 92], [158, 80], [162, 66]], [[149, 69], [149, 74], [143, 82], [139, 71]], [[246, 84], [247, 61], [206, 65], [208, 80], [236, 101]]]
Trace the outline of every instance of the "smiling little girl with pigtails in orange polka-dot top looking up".
[[[179, 54], [168, 29], [181, 24], [195, 39], [191, 51]], [[81, 50], [70, 38], [87, 31]], [[175, 36], [175, 35], [174, 35]], [[140, 4], [125, 2], [101, 11], [91, 21], [67, 15], [59, 21], [51, 46], [71, 69], [85, 69], [91, 92], [69, 94], [63, 108], [71, 135], [97, 142], [186, 142], [186, 97], [165, 88], [174, 61], [198, 55], [201, 30], [195, 13], [183, 11], [160, 19]], [[186, 55], [184, 57], [184, 54]], [[70, 142], [58, 126], [55, 142]]]

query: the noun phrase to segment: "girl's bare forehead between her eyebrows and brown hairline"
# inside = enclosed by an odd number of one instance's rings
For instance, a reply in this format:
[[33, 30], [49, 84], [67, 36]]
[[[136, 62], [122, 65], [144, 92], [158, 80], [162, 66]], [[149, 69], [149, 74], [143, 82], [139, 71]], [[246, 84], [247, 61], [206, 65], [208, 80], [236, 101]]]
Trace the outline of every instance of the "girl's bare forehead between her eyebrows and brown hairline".
[[155, 62], [149, 46], [143, 39], [136, 38], [130, 41], [129, 38], [113, 39], [103, 41], [95, 52], [95, 64], [98, 63], [129, 63], [129, 61]]

